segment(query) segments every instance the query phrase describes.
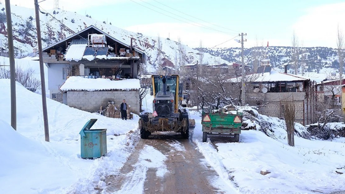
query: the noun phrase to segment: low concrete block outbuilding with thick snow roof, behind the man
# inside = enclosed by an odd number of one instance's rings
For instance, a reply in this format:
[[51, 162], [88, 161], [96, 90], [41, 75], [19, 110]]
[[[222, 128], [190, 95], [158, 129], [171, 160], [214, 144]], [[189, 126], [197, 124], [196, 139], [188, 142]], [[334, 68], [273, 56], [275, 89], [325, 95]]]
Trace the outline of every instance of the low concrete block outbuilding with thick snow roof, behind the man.
[[108, 101], [119, 105], [126, 99], [131, 112], [139, 114], [140, 111], [138, 79], [110, 80], [72, 76], [63, 83], [60, 90], [66, 94], [63, 103], [76, 109], [96, 112], [100, 106], [108, 105]]

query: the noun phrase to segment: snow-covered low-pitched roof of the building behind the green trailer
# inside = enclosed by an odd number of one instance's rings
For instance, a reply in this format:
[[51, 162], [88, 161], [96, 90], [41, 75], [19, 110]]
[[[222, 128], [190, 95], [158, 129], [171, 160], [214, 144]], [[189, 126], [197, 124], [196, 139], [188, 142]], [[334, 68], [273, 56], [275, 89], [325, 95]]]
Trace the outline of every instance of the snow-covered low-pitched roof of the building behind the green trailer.
[[[241, 82], [242, 77], [231, 78], [230, 82]], [[245, 76], [247, 82], [297, 82], [297, 81], [308, 81], [308, 78], [297, 76], [293, 74], [287, 74], [277, 71], [271, 71], [267, 73], [253, 73]]]

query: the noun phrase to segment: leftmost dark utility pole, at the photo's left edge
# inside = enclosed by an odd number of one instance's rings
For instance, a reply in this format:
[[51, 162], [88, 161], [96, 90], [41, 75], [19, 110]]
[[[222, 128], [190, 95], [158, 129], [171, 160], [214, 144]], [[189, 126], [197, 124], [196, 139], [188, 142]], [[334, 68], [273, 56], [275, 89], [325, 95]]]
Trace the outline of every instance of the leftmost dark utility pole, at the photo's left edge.
[[16, 102], [16, 67], [14, 64], [13, 33], [10, 0], [5, 0], [6, 22], [8, 36], [8, 53], [10, 57], [10, 87], [11, 87], [11, 126], [17, 130], [17, 102]]

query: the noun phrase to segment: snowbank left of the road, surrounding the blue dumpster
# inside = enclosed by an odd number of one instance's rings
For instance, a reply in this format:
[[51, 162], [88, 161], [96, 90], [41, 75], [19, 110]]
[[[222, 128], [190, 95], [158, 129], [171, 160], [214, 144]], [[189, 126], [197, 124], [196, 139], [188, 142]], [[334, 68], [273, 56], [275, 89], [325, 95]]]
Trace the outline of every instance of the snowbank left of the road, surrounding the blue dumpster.
[[[50, 142], [44, 141], [41, 95], [17, 83], [17, 131], [10, 123], [10, 81], [0, 79], [0, 193], [94, 193], [103, 176], [116, 172], [134, 148], [134, 120], [106, 118], [47, 99]], [[79, 131], [91, 118], [93, 129], [107, 129], [108, 153], [96, 160], [80, 158]], [[15, 181], [14, 181], [15, 180]], [[18, 186], [20, 184], [20, 186]]]

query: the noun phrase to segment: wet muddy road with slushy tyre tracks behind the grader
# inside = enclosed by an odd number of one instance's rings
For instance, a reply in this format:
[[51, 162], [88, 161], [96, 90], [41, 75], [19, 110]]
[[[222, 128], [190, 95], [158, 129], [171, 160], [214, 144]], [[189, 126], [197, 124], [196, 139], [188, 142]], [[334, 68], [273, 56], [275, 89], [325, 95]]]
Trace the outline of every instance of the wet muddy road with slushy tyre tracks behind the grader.
[[[155, 161], [151, 159], [143, 162], [142, 152], [150, 146], [164, 155], [163, 169], [152, 167], [150, 163]], [[140, 139], [119, 173], [106, 177], [105, 182], [108, 186], [101, 193], [225, 193], [219, 189], [224, 187], [218, 174], [196, 150], [191, 137], [182, 139], [177, 133], [159, 133], [148, 140]]]

